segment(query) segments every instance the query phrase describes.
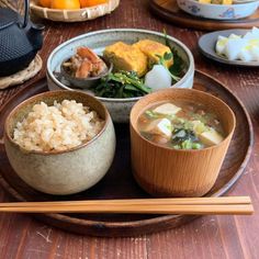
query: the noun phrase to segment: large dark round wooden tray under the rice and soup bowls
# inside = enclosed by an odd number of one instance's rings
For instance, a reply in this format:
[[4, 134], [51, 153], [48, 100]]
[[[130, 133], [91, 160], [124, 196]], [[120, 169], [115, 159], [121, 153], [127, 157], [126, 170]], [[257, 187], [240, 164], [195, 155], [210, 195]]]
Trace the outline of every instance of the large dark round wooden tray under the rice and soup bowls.
[[[239, 179], [248, 162], [252, 146], [252, 126], [240, 101], [219, 81], [195, 71], [194, 88], [210, 92], [229, 104], [236, 114], [237, 127], [219, 177], [207, 196], [226, 193]], [[23, 100], [47, 91], [46, 80], [26, 87], [16, 93], [0, 112], [0, 139], [3, 123], [9, 112]], [[56, 201], [92, 199], [148, 198], [134, 181], [131, 172], [130, 133], [127, 124], [115, 125], [117, 147], [114, 162], [104, 179], [86, 192], [69, 196], [53, 196], [26, 185], [12, 170], [3, 142], [0, 142], [0, 184], [18, 201]], [[94, 236], [134, 236], [165, 230], [190, 222], [195, 216], [187, 215], [106, 215], [106, 214], [43, 214], [35, 215], [43, 222], [79, 234]]]

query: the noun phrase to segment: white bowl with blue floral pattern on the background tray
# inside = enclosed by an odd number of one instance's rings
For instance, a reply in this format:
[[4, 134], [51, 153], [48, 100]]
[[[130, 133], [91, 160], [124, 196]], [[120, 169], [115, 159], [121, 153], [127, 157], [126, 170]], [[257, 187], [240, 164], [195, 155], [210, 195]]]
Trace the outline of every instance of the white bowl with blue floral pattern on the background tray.
[[258, 1], [235, 4], [200, 3], [195, 0], [177, 0], [181, 10], [194, 16], [214, 20], [236, 20], [251, 15], [258, 9]]

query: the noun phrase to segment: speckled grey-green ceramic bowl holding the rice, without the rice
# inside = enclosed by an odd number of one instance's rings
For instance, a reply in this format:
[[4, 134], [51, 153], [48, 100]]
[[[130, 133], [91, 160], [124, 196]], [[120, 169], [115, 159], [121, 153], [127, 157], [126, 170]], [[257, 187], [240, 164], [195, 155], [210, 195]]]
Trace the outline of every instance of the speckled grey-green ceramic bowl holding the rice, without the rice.
[[[40, 101], [76, 100], [90, 106], [105, 120], [102, 131], [90, 142], [66, 151], [26, 151], [12, 140], [13, 130]], [[4, 125], [4, 146], [11, 166], [29, 185], [49, 194], [72, 194], [89, 189], [109, 170], [115, 151], [112, 120], [95, 98], [80, 92], [54, 91], [35, 95], [8, 116]]]

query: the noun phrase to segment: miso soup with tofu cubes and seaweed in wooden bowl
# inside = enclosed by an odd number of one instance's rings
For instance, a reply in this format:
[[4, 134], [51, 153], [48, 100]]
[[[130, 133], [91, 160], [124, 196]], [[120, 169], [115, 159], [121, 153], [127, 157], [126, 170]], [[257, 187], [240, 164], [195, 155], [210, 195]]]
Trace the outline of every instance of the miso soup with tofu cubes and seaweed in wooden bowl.
[[225, 137], [216, 114], [190, 101], [158, 103], [144, 111], [137, 123], [145, 138], [174, 149], [202, 149]]

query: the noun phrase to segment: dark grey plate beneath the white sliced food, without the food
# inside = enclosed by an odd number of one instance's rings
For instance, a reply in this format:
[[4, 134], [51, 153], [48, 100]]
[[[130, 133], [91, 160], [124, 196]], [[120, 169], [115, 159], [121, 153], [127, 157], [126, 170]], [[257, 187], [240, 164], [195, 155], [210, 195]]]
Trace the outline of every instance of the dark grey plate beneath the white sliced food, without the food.
[[219, 56], [215, 52], [216, 41], [217, 37], [221, 36], [229, 36], [232, 33], [237, 35], [245, 35], [250, 30], [226, 30], [226, 31], [217, 31], [213, 33], [204, 34], [199, 40], [199, 49], [201, 53], [218, 63], [224, 63], [227, 65], [235, 65], [235, 66], [246, 66], [246, 67], [259, 67], [259, 61], [241, 61], [241, 60], [228, 60], [224, 56]]

